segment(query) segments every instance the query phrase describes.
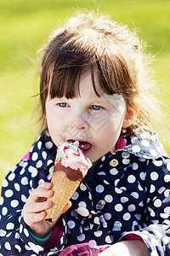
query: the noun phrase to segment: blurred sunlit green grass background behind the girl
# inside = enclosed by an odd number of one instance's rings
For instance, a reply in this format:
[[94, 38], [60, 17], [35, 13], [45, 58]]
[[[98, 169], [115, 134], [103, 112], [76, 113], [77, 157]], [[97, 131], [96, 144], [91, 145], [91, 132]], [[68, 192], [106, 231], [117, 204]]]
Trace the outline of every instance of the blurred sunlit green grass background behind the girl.
[[37, 49], [56, 24], [78, 9], [99, 11], [135, 28], [156, 55], [158, 96], [167, 113], [167, 126], [162, 130], [160, 124], [158, 134], [170, 154], [169, 0], [0, 0], [0, 183], [37, 137], [32, 97], [38, 93]]

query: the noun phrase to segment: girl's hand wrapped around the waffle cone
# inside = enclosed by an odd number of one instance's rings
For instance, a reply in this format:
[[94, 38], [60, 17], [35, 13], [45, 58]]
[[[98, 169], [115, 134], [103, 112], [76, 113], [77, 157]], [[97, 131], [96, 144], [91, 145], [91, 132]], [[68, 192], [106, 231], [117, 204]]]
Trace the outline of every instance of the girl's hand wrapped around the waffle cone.
[[[52, 183], [42, 183], [39, 185], [37, 189], [31, 191], [23, 207], [24, 221], [31, 232], [38, 237], [47, 236], [56, 223], [49, 223], [44, 219], [46, 216], [45, 211], [52, 206], [52, 202], [47, 201], [47, 198], [54, 195], [54, 191], [51, 188]], [[66, 204], [63, 212], [67, 211], [70, 207], [71, 201]]]

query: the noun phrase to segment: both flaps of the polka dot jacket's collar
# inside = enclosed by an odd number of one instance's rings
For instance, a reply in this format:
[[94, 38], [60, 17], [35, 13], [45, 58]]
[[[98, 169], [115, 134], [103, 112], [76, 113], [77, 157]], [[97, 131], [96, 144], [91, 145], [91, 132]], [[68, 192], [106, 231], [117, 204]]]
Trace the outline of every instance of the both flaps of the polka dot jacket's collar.
[[[144, 159], [156, 159], [162, 155], [167, 155], [163, 146], [158, 140], [156, 133], [151, 133], [147, 128], [144, 131], [135, 133], [132, 137], [127, 136], [123, 138], [126, 147], [117, 149], [116, 153], [127, 152], [133, 154], [139, 158]], [[105, 159], [111, 157], [111, 152], [105, 154], [102, 158]], [[56, 155], [56, 146], [54, 145], [48, 131], [42, 131], [42, 134], [37, 138], [37, 141], [33, 143], [30, 149], [30, 161], [31, 166], [37, 169], [48, 170], [51, 166], [54, 166], [54, 160]], [[101, 158], [101, 160], [102, 160]]]

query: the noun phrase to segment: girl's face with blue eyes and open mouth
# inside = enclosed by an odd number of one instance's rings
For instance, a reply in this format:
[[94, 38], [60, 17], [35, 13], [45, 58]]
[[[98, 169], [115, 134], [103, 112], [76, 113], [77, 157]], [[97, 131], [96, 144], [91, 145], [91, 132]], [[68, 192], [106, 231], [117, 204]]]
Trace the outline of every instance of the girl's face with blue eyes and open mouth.
[[116, 150], [126, 103], [122, 95], [96, 96], [90, 72], [82, 74], [79, 90], [80, 96], [73, 99], [50, 99], [48, 95], [48, 131], [56, 146], [61, 142], [79, 141], [79, 148], [94, 163], [107, 152]]

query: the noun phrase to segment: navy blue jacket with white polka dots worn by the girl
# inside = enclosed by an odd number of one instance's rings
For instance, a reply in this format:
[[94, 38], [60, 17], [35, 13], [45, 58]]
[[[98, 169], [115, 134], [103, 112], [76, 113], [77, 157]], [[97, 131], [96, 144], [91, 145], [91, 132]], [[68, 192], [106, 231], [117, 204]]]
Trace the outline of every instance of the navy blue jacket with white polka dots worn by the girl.
[[31, 190], [49, 182], [53, 172], [56, 147], [43, 132], [3, 180], [0, 255], [56, 255], [73, 244], [111, 244], [129, 234], [140, 236], [151, 256], [170, 255], [170, 158], [148, 130], [124, 140], [125, 148], [105, 154], [89, 169], [61, 216], [59, 243], [44, 253], [22, 213]]

